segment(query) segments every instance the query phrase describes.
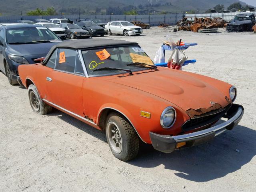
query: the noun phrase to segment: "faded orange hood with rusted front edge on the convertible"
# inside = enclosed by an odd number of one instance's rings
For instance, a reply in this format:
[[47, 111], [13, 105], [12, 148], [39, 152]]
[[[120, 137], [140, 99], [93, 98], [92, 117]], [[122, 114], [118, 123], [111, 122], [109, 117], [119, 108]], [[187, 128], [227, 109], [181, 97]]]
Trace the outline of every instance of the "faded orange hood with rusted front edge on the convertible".
[[218, 103], [221, 107], [230, 103], [226, 95], [214, 86], [214, 81], [209, 84], [178, 70], [161, 69], [140, 74], [135, 72], [133, 76], [115, 77], [108, 81], [148, 92], [168, 100], [184, 111], [208, 109], [212, 107], [211, 102], [216, 105]]

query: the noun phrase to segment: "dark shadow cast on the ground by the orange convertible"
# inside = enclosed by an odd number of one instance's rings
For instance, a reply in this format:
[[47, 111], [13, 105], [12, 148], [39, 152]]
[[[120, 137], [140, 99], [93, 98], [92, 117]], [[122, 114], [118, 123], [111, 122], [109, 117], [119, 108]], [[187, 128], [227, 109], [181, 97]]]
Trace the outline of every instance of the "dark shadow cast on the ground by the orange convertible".
[[[72, 126], [106, 142], [104, 131], [88, 126], [68, 114], [53, 109], [48, 115], [58, 116]], [[256, 155], [255, 138], [255, 130], [238, 125], [208, 143], [176, 150], [170, 154], [158, 152], [152, 145], [142, 144], [137, 158], [126, 163], [143, 168], [154, 168], [163, 164], [165, 169], [174, 170], [174, 174], [180, 178], [207, 182], [235, 172], [250, 162]]]

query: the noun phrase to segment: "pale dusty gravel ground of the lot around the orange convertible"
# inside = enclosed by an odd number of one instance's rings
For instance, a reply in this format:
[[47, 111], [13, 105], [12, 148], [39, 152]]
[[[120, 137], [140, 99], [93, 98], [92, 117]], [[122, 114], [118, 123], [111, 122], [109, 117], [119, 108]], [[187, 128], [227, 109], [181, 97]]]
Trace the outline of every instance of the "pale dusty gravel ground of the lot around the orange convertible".
[[104, 132], [58, 110], [33, 113], [27, 90], [0, 73], [0, 191], [255, 191], [256, 34], [171, 31], [152, 27], [141, 36], [105, 38], [138, 42], [152, 59], [167, 34], [197, 42], [186, 51], [197, 62], [183, 70], [238, 88], [236, 103], [245, 112], [234, 130], [171, 154], [144, 147], [138, 158], [122, 162]]

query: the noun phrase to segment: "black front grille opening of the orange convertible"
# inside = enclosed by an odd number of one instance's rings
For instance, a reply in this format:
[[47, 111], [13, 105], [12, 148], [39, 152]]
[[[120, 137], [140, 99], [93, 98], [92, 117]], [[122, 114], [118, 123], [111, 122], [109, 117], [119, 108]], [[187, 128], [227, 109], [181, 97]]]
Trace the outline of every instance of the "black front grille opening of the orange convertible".
[[208, 112], [206, 114], [202, 114], [201, 116], [197, 116], [196, 118], [191, 118], [187, 122], [185, 122], [181, 127], [184, 132], [190, 131], [196, 128], [200, 128], [203, 126], [206, 126], [208, 124], [211, 124], [213, 122], [216, 122], [219, 120], [228, 109], [231, 107], [232, 104], [228, 104], [226, 107]]

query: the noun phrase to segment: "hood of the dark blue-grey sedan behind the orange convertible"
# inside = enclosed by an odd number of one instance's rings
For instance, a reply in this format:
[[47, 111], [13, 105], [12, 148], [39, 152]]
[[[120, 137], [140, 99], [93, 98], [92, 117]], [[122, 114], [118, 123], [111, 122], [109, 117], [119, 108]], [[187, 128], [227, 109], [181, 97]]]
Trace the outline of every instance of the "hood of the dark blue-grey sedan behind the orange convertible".
[[9, 54], [24, 56], [30, 64], [35, 63], [32, 59], [45, 57], [52, 46], [58, 42], [8, 45]]

